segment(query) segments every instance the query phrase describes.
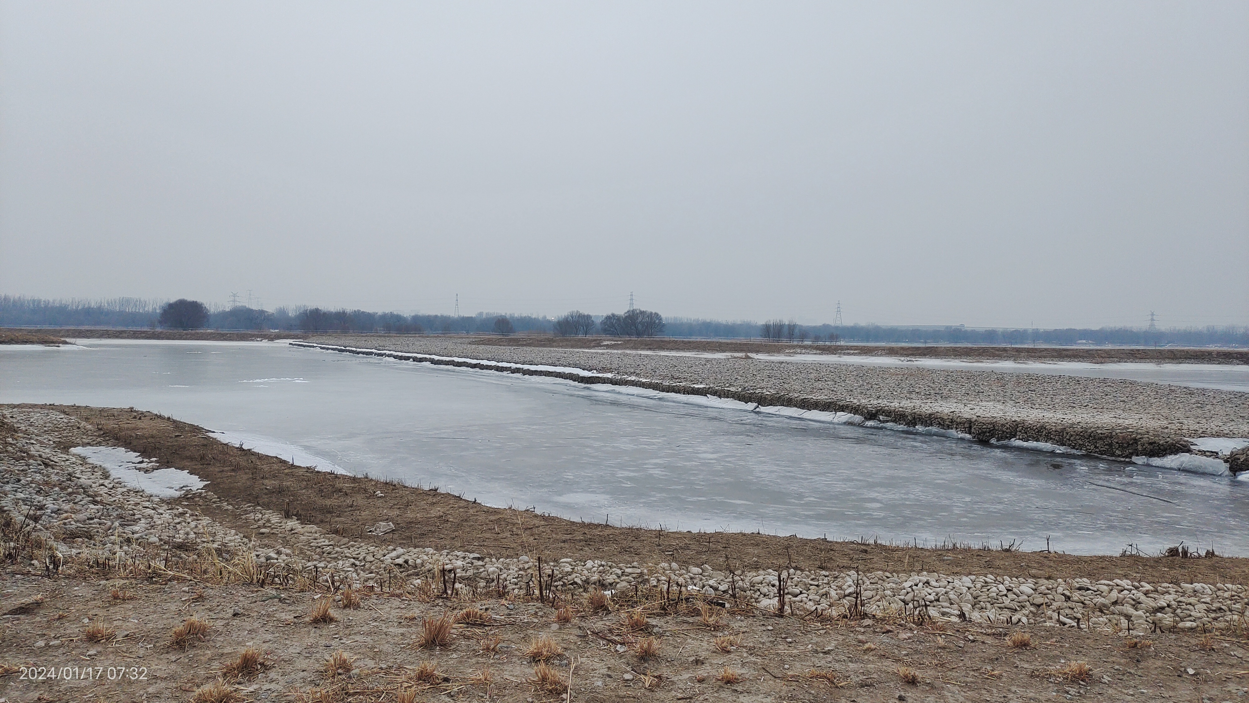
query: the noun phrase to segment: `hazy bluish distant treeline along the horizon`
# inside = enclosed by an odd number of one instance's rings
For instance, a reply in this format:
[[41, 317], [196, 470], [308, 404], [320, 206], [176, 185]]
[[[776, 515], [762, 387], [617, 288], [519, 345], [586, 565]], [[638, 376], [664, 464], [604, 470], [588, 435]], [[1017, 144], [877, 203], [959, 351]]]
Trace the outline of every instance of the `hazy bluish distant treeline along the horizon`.
[[[40, 300], [0, 296], [0, 326], [4, 327], [145, 327], [159, 326], [164, 301], [142, 298]], [[1133, 327], [1062, 328], [969, 328], [969, 327], [896, 327], [882, 325], [798, 325], [793, 321], [699, 320], [657, 317], [658, 333], [666, 337], [772, 338], [783, 342], [866, 342], [909, 345], [1129, 345], [1129, 346], [1240, 346], [1249, 347], [1249, 327], [1189, 327], [1143, 330]], [[615, 327], [617, 315], [608, 320]], [[577, 328], [576, 316], [588, 320]], [[318, 307], [279, 307], [255, 310], [246, 306], [209, 308], [207, 327], [214, 330], [277, 330], [291, 332], [391, 332], [391, 333], [482, 333], [495, 332], [496, 322], [506, 317], [517, 333], [611, 333], [602, 328], [605, 316], [573, 311], [560, 321], [532, 315], [478, 312], [472, 316], [402, 315], [365, 310], [322, 310]], [[623, 331], [622, 333], [631, 333]]]

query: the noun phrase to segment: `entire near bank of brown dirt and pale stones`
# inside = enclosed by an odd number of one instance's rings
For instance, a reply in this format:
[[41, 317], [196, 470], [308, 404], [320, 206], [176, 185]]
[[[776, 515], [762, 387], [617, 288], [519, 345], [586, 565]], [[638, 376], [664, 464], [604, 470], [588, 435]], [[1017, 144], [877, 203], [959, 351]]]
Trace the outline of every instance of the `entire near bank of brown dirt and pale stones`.
[[[581, 701], [1244, 691], [1249, 559], [617, 528], [294, 467], [131, 410], [4, 406], [0, 420], [10, 699], [190, 699], [217, 677], [237, 696], [332, 701], [405, 689], [553, 701], [570, 679]], [[157, 499], [79, 446], [127, 448], [209, 483]], [[377, 522], [393, 529], [368, 533]], [[598, 587], [613, 592], [607, 612], [590, 599]], [[333, 622], [309, 622], [318, 601]], [[422, 622], [465, 611], [442, 644], [412, 646]], [[202, 639], [171, 644], [192, 617]], [[538, 637], [560, 649], [545, 683], [526, 654]], [[262, 663], [230, 668], [247, 647]], [[441, 674], [421, 673], [427, 662]], [[147, 678], [27, 682], [14, 668], [62, 663]]]

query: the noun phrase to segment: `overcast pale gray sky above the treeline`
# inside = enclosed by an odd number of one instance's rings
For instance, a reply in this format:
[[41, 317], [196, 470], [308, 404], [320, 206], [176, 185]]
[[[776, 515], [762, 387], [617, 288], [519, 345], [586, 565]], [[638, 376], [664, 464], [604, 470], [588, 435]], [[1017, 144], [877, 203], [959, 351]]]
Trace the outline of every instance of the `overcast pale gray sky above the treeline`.
[[1249, 323], [1249, 2], [0, 2], [0, 292]]

